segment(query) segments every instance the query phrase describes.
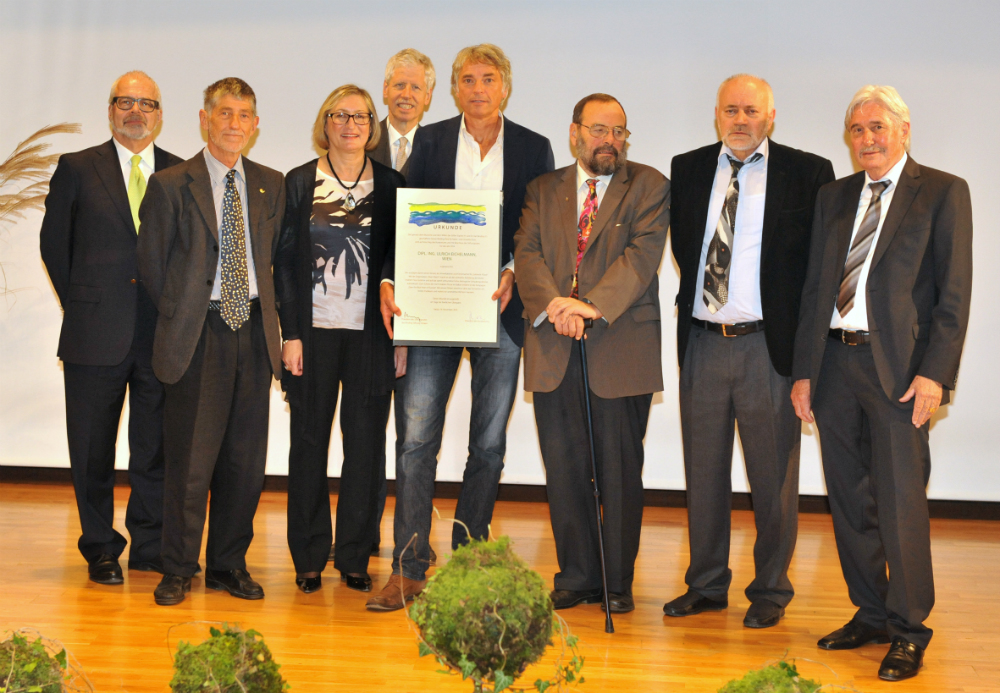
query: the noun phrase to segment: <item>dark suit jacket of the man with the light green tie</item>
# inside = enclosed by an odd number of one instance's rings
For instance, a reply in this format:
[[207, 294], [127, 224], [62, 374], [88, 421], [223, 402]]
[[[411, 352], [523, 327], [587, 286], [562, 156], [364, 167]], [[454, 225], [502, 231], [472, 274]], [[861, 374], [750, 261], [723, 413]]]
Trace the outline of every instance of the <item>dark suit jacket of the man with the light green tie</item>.
[[[159, 147], [154, 157], [157, 171], [182, 161]], [[151, 347], [156, 308], [137, 281], [135, 222], [112, 140], [59, 157], [40, 235], [63, 308], [59, 358], [116, 366], [133, 339]]]

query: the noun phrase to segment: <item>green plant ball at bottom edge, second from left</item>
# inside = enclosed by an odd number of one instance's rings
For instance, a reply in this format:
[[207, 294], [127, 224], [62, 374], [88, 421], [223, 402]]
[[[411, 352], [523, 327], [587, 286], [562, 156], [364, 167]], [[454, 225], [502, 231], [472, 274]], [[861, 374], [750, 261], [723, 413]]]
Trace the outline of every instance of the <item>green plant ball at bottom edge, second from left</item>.
[[211, 637], [198, 645], [178, 643], [173, 693], [280, 693], [289, 688], [264, 636], [222, 625], [222, 630], [211, 628]]

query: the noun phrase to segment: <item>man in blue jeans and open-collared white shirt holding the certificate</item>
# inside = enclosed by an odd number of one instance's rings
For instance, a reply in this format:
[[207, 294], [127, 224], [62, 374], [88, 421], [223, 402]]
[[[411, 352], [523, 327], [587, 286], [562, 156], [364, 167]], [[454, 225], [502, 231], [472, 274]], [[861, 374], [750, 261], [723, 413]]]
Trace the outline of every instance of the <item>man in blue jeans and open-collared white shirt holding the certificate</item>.
[[[497, 46], [484, 43], [459, 51], [452, 65], [451, 89], [462, 113], [417, 130], [407, 184], [413, 188], [502, 190], [500, 261], [503, 270], [493, 300], [500, 301], [498, 348], [470, 348], [472, 416], [469, 457], [455, 517], [473, 537], [485, 537], [493, 517], [507, 447], [517, 374], [524, 341], [523, 305], [514, 285], [514, 232], [524, 204], [524, 189], [555, 167], [548, 139], [505, 118], [510, 93], [510, 61]], [[382, 283], [382, 316], [392, 334], [392, 316], [401, 315], [391, 280]], [[405, 308], [405, 306], [403, 306]], [[445, 411], [462, 347], [412, 347], [406, 377], [396, 385], [396, 547], [393, 575], [368, 601], [375, 611], [401, 609], [424, 585], [430, 556], [434, 476], [441, 449]], [[416, 534], [417, 540], [411, 542]], [[452, 547], [465, 543], [455, 525]], [[404, 547], [410, 544], [406, 556]]]

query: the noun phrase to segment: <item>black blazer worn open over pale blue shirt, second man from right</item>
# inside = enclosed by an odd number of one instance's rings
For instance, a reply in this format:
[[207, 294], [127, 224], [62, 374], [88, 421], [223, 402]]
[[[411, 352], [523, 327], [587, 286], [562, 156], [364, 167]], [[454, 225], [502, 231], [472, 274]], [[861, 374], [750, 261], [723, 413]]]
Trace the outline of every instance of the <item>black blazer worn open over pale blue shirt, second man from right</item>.
[[[716, 142], [675, 156], [670, 164], [670, 243], [681, 273], [676, 303], [677, 360], [682, 367], [694, 302], [701, 300], [705, 275], [701, 249], [721, 151], [722, 143]], [[792, 373], [792, 348], [809, 260], [816, 194], [834, 177], [829, 160], [774, 141], [768, 143], [760, 302], [768, 355], [774, 369], [784, 376]]]

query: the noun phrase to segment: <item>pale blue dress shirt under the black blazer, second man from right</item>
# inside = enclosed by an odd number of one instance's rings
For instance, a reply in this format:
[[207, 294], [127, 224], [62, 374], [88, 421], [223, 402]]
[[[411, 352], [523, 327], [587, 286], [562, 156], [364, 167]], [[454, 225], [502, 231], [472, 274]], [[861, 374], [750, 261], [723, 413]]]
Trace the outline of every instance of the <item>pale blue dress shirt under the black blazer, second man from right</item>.
[[[736, 226], [733, 231], [732, 262], [729, 265], [729, 300], [714, 314], [698, 292], [694, 306], [694, 317], [707, 322], [735, 325], [741, 322], [756, 322], [764, 318], [760, 305], [760, 243], [764, 234], [764, 200], [767, 192], [768, 139], [747, 157], [760, 152], [761, 158], [747, 163], [740, 169], [736, 180], [740, 186], [739, 204], [736, 207]], [[715, 237], [715, 228], [726, 202], [726, 191], [732, 179], [733, 167], [729, 157], [733, 150], [725, 144], [719, 152], [719, 165], [715, 169], [712, 196], [708, 201], [708, 218], [705, 220], [705, 238], [701, 245], [701, 275], [705, 274], [708, 263], [708, 247]], [[704, 282], [699, 282], [703, 286]]]

